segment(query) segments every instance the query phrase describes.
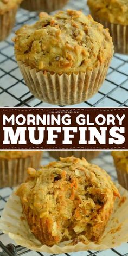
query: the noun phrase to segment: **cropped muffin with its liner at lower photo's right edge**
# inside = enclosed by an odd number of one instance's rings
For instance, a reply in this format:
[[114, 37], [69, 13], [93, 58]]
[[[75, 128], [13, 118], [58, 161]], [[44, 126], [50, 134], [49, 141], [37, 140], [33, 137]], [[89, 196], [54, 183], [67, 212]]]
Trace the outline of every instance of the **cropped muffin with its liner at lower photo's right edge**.
[[128, 189], [128, 151], [112, 151], [119, 184]]

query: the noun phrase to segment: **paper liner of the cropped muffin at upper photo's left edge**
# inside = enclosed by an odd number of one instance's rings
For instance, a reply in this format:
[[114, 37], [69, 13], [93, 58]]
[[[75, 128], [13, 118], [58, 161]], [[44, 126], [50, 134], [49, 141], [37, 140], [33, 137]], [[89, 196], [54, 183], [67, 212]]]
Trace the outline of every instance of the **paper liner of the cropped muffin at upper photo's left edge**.
[[0, 41], [7, 38], [14, 27], [17, 8], [18, 7], [16, 6], [16, 8], [13, 8], [0, 15]]

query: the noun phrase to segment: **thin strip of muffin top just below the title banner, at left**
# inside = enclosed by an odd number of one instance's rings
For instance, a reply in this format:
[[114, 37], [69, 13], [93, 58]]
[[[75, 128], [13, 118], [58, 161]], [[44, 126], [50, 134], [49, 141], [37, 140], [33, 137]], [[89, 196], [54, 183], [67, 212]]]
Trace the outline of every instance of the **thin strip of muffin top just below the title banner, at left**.
[[18, 159], [33, 156], [38, 151], [0, 151], [0, 159]]

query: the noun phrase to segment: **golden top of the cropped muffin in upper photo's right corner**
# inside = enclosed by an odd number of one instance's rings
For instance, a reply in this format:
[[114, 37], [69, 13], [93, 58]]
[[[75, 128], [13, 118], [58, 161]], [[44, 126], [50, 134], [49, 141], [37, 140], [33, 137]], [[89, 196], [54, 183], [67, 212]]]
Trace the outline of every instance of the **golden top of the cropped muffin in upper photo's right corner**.
[[127, 0], [88, 0], [92, 15], [114, 24], [128, 25]]

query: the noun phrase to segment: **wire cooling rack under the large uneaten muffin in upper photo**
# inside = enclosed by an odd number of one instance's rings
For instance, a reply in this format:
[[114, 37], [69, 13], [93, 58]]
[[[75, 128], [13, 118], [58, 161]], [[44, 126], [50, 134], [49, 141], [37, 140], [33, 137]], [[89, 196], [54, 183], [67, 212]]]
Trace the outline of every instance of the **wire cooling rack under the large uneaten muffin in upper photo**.
[[[89, 12], [86, 0], [69, 1], [64, 9], [82, 9]], [[30, 93], [17, 66], [14, 56], [12, 37], [24, 24], [33, 24], [37, 20], [35, 12], [19, 9], [16, 24], [10, 36], [0, 42], [0, 106], [56, 107], [44, 103]], [[106, 80], [99, 92], [85, 103], [74, 107], [119, 107], [128, 106], [128, 55], [114, 54]], [[70, 107], [70, 106], [69, 106]]]

